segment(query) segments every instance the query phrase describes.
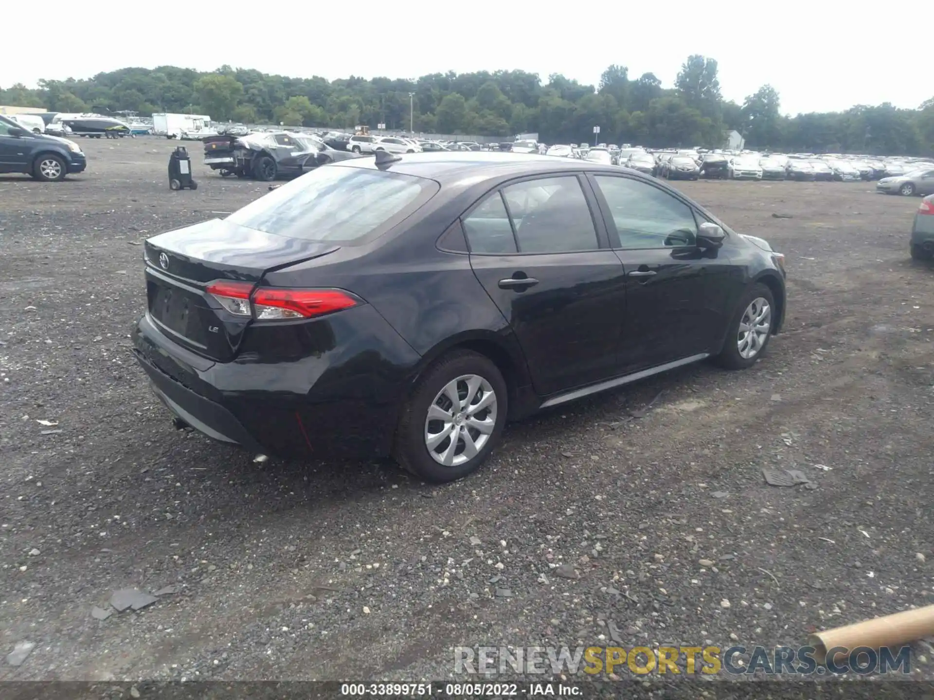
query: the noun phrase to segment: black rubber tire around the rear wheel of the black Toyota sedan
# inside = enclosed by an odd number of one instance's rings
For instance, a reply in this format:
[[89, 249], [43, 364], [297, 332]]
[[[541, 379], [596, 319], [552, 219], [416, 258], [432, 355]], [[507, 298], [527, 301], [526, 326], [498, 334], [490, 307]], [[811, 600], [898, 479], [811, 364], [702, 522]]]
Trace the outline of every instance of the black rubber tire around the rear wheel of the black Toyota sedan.
[[[446, 467], [436, 461], [429, 454], [429, 448], [425, 441], [425, 430], [428, 427], [428, 412], [435, 400], [439, 399], [439, 394], [446, 385], [453, 380], [464, 375], [474, 375], [481, 377], [490, 386], [495, 397], [495, 418], [494, 426], [488, 434], [488, 440], [483, 447], [477, 451], [473, 458], [467, 459], [463, 463]], [[466, 389], [466, 385], [461, 385]], [[464, 391], [464, 395], [466, 391]], [[463, 396], [461, 396], [463, 399]], [[448, 401], [449, 403], [449, 401]], [[496, 447], [502, 436], [502, 427], [506, 421], [508, 411], [508, 396], [505, 380], [495, 364], [483, 355], [471, 352], [469, 350], [457, 350], [445, 357], [436, 360], [432, 366], [422, 374], [417, 381], [409, 399], [405, 402], [403, 413], [399, 419], [399, 426], [396, 429], [395, 444], [392, 455], [397, 462], [412, 472], [417, 477], [430, 483], [447, 483], [461, 479], [475, 469], [487, 459], [489, 453]], [[476, 413], [481, 415], [485, 411]], [[485, 418], [492, 417], [486, 413]], [[444, 423], [438, 422], [439, 429]], [[460, 424], [459, 424], [460, 425]], [[454, 426], [452, 425], [452, 428]], [[460, 429], [467, 429], [466, 425]], [[475, 429], [475, 428], [474, 428]], [[474, 438], [479, 435], [477, 433]], [[438, 443], [437, 449], [442, 452], [446, 445], [450, 445], [451, 438]], [[455, 446], [456, 451], [462, 452], [462, 439]], [[460, 452], [457, 456], [460, 456]]]

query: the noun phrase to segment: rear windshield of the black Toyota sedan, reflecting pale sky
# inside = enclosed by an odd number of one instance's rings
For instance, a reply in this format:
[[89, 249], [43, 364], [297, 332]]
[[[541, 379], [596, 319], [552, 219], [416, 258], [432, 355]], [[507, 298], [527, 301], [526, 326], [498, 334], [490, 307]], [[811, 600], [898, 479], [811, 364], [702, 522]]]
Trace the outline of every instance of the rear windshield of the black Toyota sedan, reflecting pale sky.
[[324, 165], [227, 217], [248, 229], [306, 241], [351, 243], [379, 235], [428, 202], [433, 180]]

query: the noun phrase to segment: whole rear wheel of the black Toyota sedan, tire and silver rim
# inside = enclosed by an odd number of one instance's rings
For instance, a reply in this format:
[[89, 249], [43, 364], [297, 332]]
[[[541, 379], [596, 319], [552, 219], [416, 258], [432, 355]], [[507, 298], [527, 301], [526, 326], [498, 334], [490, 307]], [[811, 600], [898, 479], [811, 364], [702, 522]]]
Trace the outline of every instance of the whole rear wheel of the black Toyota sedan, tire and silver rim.
[[426, 482], [460, 479], [500, 441], [507, 401], [502, 373], [488, 357], [466, 350], [442, 357], [403, 407], [393, 456]]

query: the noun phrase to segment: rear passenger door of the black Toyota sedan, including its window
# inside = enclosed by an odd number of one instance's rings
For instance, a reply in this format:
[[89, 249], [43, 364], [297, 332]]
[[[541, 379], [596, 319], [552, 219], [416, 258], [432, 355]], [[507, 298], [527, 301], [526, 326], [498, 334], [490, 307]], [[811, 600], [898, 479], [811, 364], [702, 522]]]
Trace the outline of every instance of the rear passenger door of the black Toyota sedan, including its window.
[[582, 175], [493, 192], [463, 217], [471, 265], [517, 335], [546, 396], [617, 373], [623, 266]]

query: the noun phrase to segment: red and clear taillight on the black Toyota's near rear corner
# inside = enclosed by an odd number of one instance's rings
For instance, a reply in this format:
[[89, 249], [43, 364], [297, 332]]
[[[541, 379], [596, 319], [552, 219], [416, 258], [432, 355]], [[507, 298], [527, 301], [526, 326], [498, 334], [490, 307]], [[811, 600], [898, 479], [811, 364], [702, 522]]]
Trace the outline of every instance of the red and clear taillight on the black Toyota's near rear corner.
[[248, 282], [219, 280], [206, 288], [233, 315], [252, 316], [260, 321], [311, 318], [357, 306], [361, 300], [340, 289], [280, 289], [258, 287]]

